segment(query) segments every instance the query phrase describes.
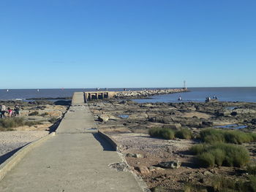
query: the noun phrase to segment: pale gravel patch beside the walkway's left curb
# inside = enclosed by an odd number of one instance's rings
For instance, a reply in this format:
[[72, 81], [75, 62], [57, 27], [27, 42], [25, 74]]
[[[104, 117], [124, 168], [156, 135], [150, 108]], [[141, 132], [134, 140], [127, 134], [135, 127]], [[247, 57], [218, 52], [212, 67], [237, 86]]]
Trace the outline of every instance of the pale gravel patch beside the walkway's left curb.
[[48, 131], [3, 131], [0, 132], [0, 156], [12, 150], [33, 142], [45, 135]]

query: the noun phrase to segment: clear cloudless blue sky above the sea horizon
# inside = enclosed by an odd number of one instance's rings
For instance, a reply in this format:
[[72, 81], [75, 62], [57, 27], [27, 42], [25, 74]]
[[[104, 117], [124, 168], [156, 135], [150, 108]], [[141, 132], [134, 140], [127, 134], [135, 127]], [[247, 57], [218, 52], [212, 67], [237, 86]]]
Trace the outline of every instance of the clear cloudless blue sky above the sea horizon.
[[1, 0], [0, 88], [256, 86], [255, 9], [255, 0]]

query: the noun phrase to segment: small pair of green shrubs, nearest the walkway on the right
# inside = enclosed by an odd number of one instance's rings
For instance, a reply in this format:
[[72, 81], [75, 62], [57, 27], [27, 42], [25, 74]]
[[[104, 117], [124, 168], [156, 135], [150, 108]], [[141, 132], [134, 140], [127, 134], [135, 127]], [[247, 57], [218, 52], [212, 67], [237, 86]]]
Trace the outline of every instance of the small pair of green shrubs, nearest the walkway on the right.
[[188, 128], [174, 131], [171, 128], [151, 128], [148, 131], [151, 137], [159, 137], [163, 139], [192, 139], [192, 132]]

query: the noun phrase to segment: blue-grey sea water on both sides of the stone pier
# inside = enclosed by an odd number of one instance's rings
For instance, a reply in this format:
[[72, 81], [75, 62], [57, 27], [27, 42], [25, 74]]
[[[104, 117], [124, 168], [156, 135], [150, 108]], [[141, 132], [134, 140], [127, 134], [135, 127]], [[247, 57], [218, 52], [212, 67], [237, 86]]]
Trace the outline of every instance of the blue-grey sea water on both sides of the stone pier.
[[[129, 88], [128, 90], [141, 90], [142, 88]], [[149, 88], [148, 88], [149, 89]], [[182, 101], [205, 101], [206, 96], [217, 96], [219, 101], [246, 101], [256, 102], [256, 87], [253, 88], [188, 88], [190, 92], [173, 93], [167, 95], [151, 96], [150, 99], [134, 99], [142, 102], [178, 102], [178, 96]], [[102, 89], [104, 90], [104, 89]], [[95, 91], [95, 89], [0, 89], [0, 100], [29, 99], [39, 97], [68, 97], [76, 91]], [[111, 88], [108, 91], [122, 91], [121, 88]]]

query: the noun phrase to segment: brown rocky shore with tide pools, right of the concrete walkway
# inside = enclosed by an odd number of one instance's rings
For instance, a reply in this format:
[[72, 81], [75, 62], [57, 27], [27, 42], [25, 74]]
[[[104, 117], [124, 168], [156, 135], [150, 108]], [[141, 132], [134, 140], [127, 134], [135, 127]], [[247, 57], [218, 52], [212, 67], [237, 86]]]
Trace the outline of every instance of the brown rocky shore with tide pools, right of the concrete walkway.
[[[143, 103], [105, 101], [89, 103], [97, 127], [121, 145], [121, 152], [136, 174], [143, 177], [151, 191], [184, 191], [186, 183], [208, 186], [214, 177], [246, 180], [245, 167], [219, 166], [210, 169], [197, 166], [188, 151], [200, 143], [196, 139], [204, 128], [235, 129], [253, 133], [256, 130], [256, 103], [181, 102]], [[230, 126], [233, 125], [233, 126]], [[235, 126], [236, 125], [236, 126]], [[188, 128], [195, 139], [159, 139], [148, 135], [150, 128]], [[256, 163], [256, 143], [243, 144], [251, 163]], [[170, 162], [179, 166], [159, 167]], [[172, 165], [171, 164], [171, 165]], [[181, 164], [181, 165], [180, 165]]]

